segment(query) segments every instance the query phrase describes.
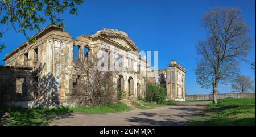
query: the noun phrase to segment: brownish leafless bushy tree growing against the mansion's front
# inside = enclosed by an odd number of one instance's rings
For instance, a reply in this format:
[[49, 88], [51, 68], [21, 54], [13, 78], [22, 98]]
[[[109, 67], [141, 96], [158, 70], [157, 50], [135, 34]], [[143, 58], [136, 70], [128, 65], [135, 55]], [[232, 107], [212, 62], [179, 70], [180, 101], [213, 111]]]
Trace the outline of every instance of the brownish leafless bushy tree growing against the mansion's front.
[[109, 105], [115, 101], [115, 71], [102, 71], [97, 68], [99, 58], [90, 55], [90, 59], [74, 62], [75, 80], [70, 96], [76, 105]]

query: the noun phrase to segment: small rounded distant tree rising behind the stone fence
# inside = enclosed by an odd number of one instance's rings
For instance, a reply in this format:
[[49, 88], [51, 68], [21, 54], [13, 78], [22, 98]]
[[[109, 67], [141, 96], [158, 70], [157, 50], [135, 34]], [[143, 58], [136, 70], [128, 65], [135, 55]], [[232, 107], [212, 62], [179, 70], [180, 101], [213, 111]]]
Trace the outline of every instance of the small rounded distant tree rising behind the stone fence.
[[232, 84], [231, 88], [233, 91], [231, 92], [239, 92], [245, 93], [253, 91], [253, 81], [250, 79], [250, 76], [240, 75], [237, 76], [235, 83]]

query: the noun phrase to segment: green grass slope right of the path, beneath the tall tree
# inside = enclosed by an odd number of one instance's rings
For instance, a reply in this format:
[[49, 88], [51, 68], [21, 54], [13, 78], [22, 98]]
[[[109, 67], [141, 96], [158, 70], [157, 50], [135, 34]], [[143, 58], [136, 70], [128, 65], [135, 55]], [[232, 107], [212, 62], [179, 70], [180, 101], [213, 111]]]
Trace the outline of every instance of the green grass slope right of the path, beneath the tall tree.
[[218, 99], [218, 104], [208, 104], [213, 114], [195, 117], [189, 125], [248, 125], [255, 126], [255, 98]]

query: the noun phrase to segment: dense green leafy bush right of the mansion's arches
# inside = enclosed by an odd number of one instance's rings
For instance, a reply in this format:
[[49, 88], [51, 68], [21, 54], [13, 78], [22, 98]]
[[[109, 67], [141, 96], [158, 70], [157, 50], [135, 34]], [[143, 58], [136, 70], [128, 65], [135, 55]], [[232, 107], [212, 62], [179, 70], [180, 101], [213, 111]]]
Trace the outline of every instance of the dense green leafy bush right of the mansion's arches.
[[159, 84], [147, 84], [146, 101], [162, 104], [166, 100], [166, 89]]

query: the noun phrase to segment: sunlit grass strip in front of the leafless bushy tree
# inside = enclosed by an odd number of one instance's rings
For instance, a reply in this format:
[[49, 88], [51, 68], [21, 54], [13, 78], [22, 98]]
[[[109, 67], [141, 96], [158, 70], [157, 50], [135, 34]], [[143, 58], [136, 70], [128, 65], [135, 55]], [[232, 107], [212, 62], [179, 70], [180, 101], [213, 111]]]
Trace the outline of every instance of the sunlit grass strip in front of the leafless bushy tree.
[[108, 106], [69, 107], [69, 110], [72, 110], [73, 112], [84, 112], [87, 114], [102, 114], [102, 113], [124, 112], [124, 111], [131, 110], [131, 108], [126, 104], [116, 103]]

